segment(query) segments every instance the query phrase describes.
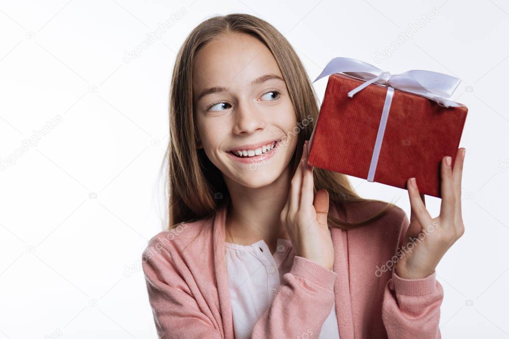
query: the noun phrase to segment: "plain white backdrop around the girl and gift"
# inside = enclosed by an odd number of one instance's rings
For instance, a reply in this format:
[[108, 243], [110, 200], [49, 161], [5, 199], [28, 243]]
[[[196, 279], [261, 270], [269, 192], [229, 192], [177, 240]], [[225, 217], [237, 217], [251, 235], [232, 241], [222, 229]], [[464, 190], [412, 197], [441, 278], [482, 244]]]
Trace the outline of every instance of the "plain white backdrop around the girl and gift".
[[[412, 39], [375, 63], [433, 8]], [[312, 79], [332, 57], [349, 56], [462, 80], [453, 99], [469, 108], [460, 143], [466, 231], [437, 268], [440, 330], [508, 337], [507, 2], [64, 0], [0, 3], [0, 159], [15, 160], [0, 171], [0, 338], [156, 337], [139, 264], [164, 224], [169, 78], [190, 30], [234, 12], [278, 28]], [[320, 99], [326, 83], [315, 83]], [[51, 119], [58, 123], [45, 128]], [[350, 178], [361, 196], [397, 199], [409, 215], [407, 191]], [[438, 215], [440, 199], [426, 202]]]

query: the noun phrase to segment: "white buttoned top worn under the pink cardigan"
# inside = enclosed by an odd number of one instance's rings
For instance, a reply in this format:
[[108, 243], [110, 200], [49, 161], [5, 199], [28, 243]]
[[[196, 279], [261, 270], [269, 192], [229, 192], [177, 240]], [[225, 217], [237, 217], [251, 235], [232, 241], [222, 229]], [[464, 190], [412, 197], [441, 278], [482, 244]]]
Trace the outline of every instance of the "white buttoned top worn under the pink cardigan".
[[[292, 267], [295, 251], [288, 239], [277, 239], [272, 255], [265, 241], [252, 245], [225, 242], [235, 338], [250, 338], [254, 324], [269, 308], [282, 277]], [[339, 339], [335, 305], [332, 305], [319, 339]]]

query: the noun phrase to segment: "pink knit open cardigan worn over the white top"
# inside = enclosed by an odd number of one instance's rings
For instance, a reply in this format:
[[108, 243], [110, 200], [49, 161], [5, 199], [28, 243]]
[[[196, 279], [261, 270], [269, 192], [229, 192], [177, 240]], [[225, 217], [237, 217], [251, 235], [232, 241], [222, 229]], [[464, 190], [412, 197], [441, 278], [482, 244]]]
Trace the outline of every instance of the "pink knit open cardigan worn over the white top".
[[[346, 215], [335, 206], [329, 213], [355, 222], [384, 204], [348, 203]], [[234, 338], [224, 259], [228, 205], [227, 200], [208, 219], [160, 232], [143, 252], [159, 337]], [[403, 245], [408, 225], [405, 212], [394, 207], [368, 226], [349, 231], [331, 228], [332, 271], [295, 256], [272, 304], [254, 325], [252, 337], [310, 337], [310, 333], [320, 332], [335, 301], [342, 339], [440, 338], [443, 289], [435, 272], [418, 280], [402, 279], [394, 270], [375, 274]]]

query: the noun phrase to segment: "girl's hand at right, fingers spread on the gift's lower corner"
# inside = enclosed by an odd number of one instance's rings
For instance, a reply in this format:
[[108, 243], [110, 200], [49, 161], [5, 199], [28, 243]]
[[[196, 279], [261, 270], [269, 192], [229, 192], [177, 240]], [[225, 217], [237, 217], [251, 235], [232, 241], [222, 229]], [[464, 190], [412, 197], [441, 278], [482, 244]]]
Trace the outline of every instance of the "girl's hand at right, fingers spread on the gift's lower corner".
[[396, 273], [403, 279], [422, 279], [432, 274], [445, 252], [463, 235], [461, 176], [465, 148], [458, 149], [454, 168], [447, 164], [447, 158], [451, 161], [450, 157], [442, 158], [442, 203], [437, 218], [431, 218], [426, 209], [425, 197], [419, 194], [415, 178], [407, 181], [412, 211], [403, 246], [413, 242], [413, 248], [402, 250], [403, 256], [395, 266]]

